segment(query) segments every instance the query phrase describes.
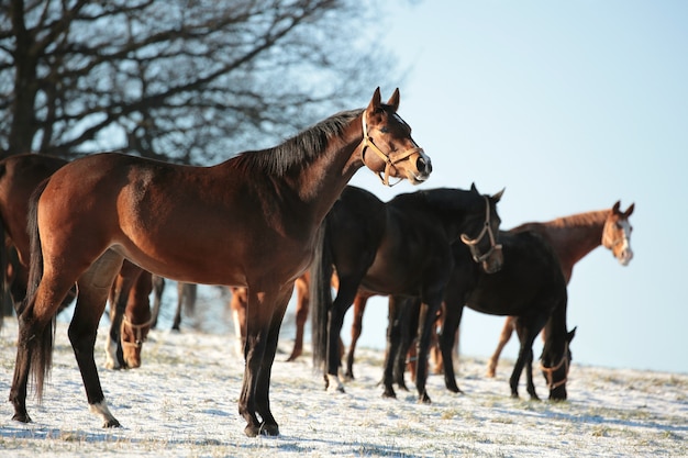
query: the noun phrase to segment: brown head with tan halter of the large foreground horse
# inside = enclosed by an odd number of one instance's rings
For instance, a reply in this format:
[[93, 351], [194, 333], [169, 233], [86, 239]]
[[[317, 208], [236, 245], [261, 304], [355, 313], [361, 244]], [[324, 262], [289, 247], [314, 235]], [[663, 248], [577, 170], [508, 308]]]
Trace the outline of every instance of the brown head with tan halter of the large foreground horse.
[[380, 101], [380, 88], [375, 90], [368, 108], [363, 112], [360, 158], [385, 186], [390, 186], [389, 177], [406, 178], [418, 185], [428, 179], [432, 164], [411, 137], [409, 124], [397, 114], [398, 108], [399, 89], [387, 103]]

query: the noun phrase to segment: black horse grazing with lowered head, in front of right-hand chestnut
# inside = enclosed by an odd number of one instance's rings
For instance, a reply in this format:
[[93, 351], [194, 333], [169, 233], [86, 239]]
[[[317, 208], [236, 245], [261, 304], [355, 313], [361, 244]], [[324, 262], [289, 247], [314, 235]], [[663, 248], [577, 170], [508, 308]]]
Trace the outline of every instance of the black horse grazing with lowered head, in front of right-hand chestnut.
[[[526, 368], [528, 393], [537, 399], [533, 384], [533, 342], [545, 331], [545, 344], [541, 356], [541, 369], [550, 388], [551, 400], [566, 399], [566, 379], [572, 355], [569, 344], [575, 331], [566, 327], [566, 280], [553, 248], [540, 235], [532, 232], [501, 232], [503, 265], [498, 272], [486, 275], [471, 262], [470, 253], [464, 244], [452, 246], [454, 269], [445, 289], [444, 324], [440, 334], [440, 349], [444, 364], [446, 388], [459, 392], [454, 376], [452, 348], [460, 324], [464, 305], [491, 315], [515, 316], [515, 329], [521, 343], [513, 372], [510, 378], [511, 395], [518, 398], [519, 379]], [[415, 303], [414, 303], [415, 302]], [[418, 299], [395, 303], [390, 301], [390, 314], [400, 329], [389, 334], [389, 360], [386, 361], [386, 390], [391, 390], [391, 367], [395, 378], [402, 386], [403, 361], [411, 338], [404, 338], [412, 329]], [[392, 317], [390, 316], [390, 322]], [[419, 362], [420, 370], [420, 362]], [[388, 373], [389, 372], [389, 373]], [[393, 390], [392, 390], [393, 392]]]

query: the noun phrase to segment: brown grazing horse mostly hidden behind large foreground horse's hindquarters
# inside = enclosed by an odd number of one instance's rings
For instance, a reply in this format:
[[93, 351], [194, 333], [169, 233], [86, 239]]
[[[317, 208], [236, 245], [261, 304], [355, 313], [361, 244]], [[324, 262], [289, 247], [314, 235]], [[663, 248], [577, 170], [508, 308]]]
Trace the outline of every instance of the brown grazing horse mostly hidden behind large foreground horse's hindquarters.
[[[65, 159], [41, 154], [20, 154], [0, 160], [0, 225], [5, 234], [4, 248], [12, 245], [18, 254], [18, 262], [12, 266], [12, 279], [3, 282], [3, 289], [7, 289], [5, 284], [11, 284], [11, 297], [15, 304], [24, 300], [29, 280], [30, 241], [26, 220], [31, 193], [44, 179], [67, 164]], [[5, 255], [2, 258], [5, 259]], [[145, 338], [148, 332], [149, 323], [146, 323], [147, 320], [142, 321], [142, 316], [149, 314], [147, 294], [151, 292], [149, 287], [137, 281], [141, 272], [138, 267], [125, 262], [118, 275], [118, 293], [111, 297], [111, 312], [119, 310], [120, 314], [119, 320], [112, 320], [114, 314], [111, 313], [112, 324], [106, 344], [108, 368], [134, 368], [141, 365], [143, 339], [136, 340], [135, 335]], [[4, 280], [9, 279], [4, 277]], [[59, 310], [69, 305], [75, 295], [76, 290], [70, 290]], [[122, 333], [123, 326], [130, 329]], [[131, 332], [132, 326], [137, 328], [137, 333]]]

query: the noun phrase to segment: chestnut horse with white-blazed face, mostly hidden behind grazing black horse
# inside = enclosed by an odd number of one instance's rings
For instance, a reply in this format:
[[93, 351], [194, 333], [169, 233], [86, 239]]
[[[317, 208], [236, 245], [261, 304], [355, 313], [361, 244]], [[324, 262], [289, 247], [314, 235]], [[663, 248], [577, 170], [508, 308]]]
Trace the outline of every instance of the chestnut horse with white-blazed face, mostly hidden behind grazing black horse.
[[[511, 232], [531, 231], [544, 237], [559, 258], [566, 284], [568, 284], [576, 262], [600, 245], [610, 249], [622, 266], [628, 266], [633, 258], [631, 249], [633, 227], [629, 222], [629, 216], [633, 213], [635, 204], [631, 204], [625, 211], [621, 211], [620, 206], [621, 202], [618, 201], [610, 210], [578, 213], [544, 223], [524, 223], [512, 228]], [[495, 377], [499, 355], [511, 338], [514, 325], [515, 317], [507, 317], [497, 349], [488, 361], [487, 377]]]

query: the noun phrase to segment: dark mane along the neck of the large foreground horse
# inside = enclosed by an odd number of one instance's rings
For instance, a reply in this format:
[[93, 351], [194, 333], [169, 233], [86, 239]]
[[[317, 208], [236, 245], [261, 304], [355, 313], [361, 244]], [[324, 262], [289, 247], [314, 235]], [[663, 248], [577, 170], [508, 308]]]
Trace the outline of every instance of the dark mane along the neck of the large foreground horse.
[[306, 129], [281, 144], [262, 150], [248, 150], [230, 159], [242, 169], [260, 169], [267, 175], [284, 177], [290, 169], [302, 169], [309, 165], [328, 143], [341, 136], [353, 120], [363, 113], [363, 109], [336, 113], [318, 124]]

